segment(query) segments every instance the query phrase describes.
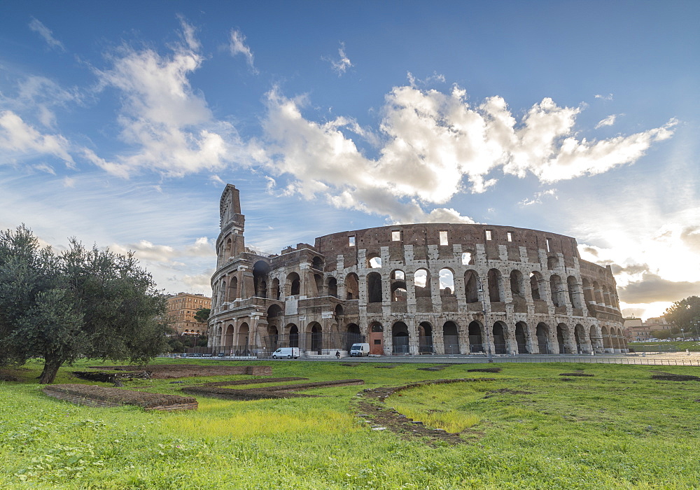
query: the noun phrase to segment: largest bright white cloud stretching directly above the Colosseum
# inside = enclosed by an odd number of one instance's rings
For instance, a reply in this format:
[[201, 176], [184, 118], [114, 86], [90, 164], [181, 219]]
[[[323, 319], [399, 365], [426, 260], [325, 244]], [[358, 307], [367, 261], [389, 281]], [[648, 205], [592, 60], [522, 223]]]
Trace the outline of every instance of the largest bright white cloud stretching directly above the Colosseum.
[[445, 204], [465, 189], [484, 192], [496, 183], [496, 169], [534, 174], [545, 183], [606, 172], [671, 137], [675, 125], [671, 120], [629, 137], [587, 141], [573, 130], [582, 109], [549, 98], [517, 121], [502, 97], [471, 106], [456, 86], [449, 93], [403, 86], [386, 95], [377, 157], [370, 158], [356, 141], [373, 132], [350, 118], [304, 118], [307, 104], [305, 97], [269, 92], [265, 141], [253, 142], [253, 158], [291, 177], [287, 193], [326, 195], [337, 207], [394, 221], [424, 218], [421, 206]]

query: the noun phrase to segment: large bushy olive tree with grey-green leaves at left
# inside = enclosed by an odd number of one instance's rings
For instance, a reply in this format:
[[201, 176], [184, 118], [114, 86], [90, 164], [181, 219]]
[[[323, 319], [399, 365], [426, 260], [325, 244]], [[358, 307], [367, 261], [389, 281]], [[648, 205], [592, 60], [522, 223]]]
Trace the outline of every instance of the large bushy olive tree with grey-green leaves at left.
[[64, 363], [146, 363], [167, 349], [165, 297], [132, 253], [76, 239], [55, 253], [22, 225], [0, 231], [0, 365], [42, 358], [40, 383]]

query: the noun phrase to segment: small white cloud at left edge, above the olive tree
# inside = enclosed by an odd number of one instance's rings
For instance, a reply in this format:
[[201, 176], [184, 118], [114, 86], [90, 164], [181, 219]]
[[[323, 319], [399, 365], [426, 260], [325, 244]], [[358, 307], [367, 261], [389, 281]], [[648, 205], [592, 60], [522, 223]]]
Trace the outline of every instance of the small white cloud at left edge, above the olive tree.
[[60, 134], [43, 134], [25, 123], [13, 111], [0, 112], [0, 162], [13, 162], [22, 156], [52, 155], [73, 167], [71, 144]]

